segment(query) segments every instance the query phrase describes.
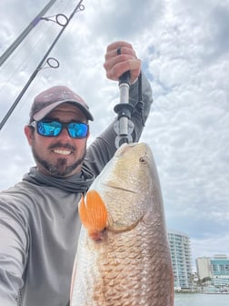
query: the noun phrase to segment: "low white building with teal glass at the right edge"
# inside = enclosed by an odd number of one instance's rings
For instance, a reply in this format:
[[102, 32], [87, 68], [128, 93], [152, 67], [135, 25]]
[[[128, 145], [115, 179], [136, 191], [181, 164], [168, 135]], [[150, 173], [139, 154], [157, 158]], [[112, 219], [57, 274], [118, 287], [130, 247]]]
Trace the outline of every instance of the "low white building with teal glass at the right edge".
[[200, 257], [195, 261], [200, 280], [209, 277], [214, 286], [229, 285], [229, 258], [226, 255], [216, 254], [213, 258]]

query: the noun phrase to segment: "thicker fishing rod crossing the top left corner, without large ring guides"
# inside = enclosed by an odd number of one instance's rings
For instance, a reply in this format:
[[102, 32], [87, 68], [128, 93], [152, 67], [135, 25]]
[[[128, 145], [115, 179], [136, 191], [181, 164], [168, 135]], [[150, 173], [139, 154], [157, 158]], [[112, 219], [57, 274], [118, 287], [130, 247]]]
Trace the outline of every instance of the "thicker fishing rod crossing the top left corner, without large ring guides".
[[38, 14], [35, 16], [35, 19], [29, 24], [29, 26], [27, 26], [25, 28], [25, 30], [21, 33], [20, 36], [18, 36], [16, 39], [15, 39], [15, 42], [9, 46], [6, 50], [5, 50], [5, 53], [0, 57], [0, 66], [2, 66], [6, 59], [12, 55], [12, 53], [15, 51], [15, 48], [17, 46], [19, 46], [22, 41], [25, 39], [25, 37], [29, 34], [29, 32], [38, 24], [38, 22], [41, 20], [41, 17], [43, 15], [45, 15], [45, 13], [47, 12], [47, 10], [52, 6], [54, 5], [56, 0], [51, 0], [49, 1], [49, 3], [47, 5], [45, 5], [44, 9]]

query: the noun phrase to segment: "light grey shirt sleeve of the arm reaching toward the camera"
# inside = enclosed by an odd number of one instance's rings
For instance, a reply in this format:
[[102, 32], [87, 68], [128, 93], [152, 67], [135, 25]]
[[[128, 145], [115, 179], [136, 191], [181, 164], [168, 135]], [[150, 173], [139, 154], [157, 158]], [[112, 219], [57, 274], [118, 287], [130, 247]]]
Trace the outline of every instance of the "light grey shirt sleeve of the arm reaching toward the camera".
[[0, 193], [0, 305], [15, 306], [24, 285], [28, 234], [24, 218], [5, 198]]

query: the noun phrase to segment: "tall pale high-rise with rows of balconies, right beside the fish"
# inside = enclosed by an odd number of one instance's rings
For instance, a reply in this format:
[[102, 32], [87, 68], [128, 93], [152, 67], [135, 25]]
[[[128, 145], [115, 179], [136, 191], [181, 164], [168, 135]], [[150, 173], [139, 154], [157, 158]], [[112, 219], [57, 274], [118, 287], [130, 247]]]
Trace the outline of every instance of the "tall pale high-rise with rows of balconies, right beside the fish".
[[180, 231], [168, 230], [168, 240], [174, 270], [174, 287], [192, 287], [192, 258], [189, 237]]

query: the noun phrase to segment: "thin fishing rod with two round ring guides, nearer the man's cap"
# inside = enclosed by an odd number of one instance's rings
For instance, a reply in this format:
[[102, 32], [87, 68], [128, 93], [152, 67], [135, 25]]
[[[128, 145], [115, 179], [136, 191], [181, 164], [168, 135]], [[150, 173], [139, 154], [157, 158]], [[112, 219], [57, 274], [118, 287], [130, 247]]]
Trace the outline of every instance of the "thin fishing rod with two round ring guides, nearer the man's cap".
[[[65, 15], [65, 19], [66, 22], [64, 24], [61, 24], [60, 22], [56, 22], [59, 26], [63, 26], [61, 31], [59, 32], [59, 34], [55, 37], [55, 40], [53, 42], [53, 44], [49, 47], [49, 49], [46, 51], [45, 56], [42, 58], [42, 60], [40, 61], [40, 63], [38, 64], [38, 66], [35, 68], [35, 71], [33, 72], [33, 74], [29, 77], [27, 83], [25, 84], [25, 87], [22, 89], [22, 91], [20, 92], [20, 94], [18, 95], [18, 97], [16, 97], [15, 102], [13, 103], [13, 105], [9, 108], [9, 110], [7, 111], [5, 117], [3, 118], [3, 120], [0, 122], [0, 130], [4, 127], [5, 122], [7, 121], [7, 119], [10, 117], [10, 115], [13, 113], [15, 107], [17, 106], [17, 104], [19, 103], [20, 99], [23, 97], [23, 95], [25, 94], [25, 91], [27, 90], [27, 88], [30, 86], [30, 84], [33, 82], [33, 80], [35, 79], [35, 76], [38, 74], [38, 72], [45, 66], [45, 64], [47, 63], [48, 66], [51, 66], [53, 68], [57, 68], [59, 66], [58, 61], [53, 58], [53, 57], [49, 57], [47, 58], [47, 56], [49, 55], [49, 53], [52, 51], [52, 49], [54, 48], [56, 42], [58, 41], [58, 39], [60, 38], [60, 36], [63, 34], [63, 32], [65, 31], [66, 26], [69, 24], [70, 20], [73, 18], [73, 16], [75, 15], [75, 13], [77, 13], [78, 11], [84, 11], [85, 9], [85, 5], [82, 5], [83, 0], [80, 0], [78, 2], [78, 4], [75, 6], [75, 9], [73, 10], [72, 14], [67, 18]], [[59, 14], [60, 15], [60, 14]], [[56, 15], [56, 19], [57, 19]], [[53, 17], [53, 16], [52, 16]], [[50, 20], [48, 18], [45, 18], [45, 20]], [[53, 20], [52, 20], [53, 21]], [[52, 64], [52, 60], [54, 61], [55, 64]]]

